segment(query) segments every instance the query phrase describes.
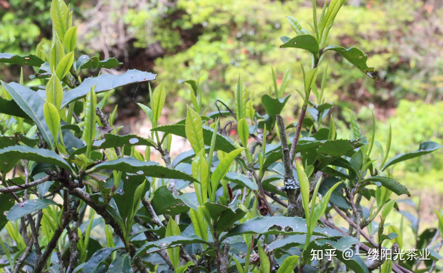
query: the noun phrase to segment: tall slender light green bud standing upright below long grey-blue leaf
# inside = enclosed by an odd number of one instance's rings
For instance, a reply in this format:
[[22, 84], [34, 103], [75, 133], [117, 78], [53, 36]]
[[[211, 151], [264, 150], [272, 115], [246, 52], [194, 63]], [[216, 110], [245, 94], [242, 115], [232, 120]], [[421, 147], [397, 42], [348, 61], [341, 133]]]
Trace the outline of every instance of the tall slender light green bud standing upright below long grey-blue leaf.
[[95, 108], [97, 106], [97, 97], [94, 87], [91, 87], [86, 96], [85, 125], [83, 126], [83, 140], [86, 142], [86, 157], [91, 158], [91, 148], [95, 137]]

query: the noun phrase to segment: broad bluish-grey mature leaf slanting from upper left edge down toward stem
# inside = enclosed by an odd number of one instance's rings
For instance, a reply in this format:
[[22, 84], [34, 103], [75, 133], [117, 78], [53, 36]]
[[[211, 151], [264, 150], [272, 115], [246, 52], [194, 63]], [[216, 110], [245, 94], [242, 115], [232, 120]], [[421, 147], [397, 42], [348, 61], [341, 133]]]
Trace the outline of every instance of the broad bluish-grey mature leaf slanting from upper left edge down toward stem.
[[15, 82], [11, 82], [9, 85], [2, 82], [2, 85], [17, 105], [34, 121], [42, 138], [52, 145], [54, 139], [43, 114], [43, 105], [45, 104], [43, 98], [31, 89]]

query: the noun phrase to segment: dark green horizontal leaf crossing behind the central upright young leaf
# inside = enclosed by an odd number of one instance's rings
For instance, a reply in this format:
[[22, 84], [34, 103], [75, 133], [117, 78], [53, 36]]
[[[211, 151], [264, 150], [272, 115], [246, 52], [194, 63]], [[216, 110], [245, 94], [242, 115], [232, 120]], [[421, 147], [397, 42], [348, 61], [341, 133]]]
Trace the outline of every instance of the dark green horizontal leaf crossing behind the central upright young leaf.
[[[164, 125], [153, 128], [151, 131], [160, 131], [169, 133], [172, 135], [178, 135], [183, 138], [186, 138], [185, 133], [185, 125], [184, 124], [172, 124], [172, 125]], [[211, 145], [211, 139], [214, 131], [207, 126], [203, 126], [203, 139], [205, 141], [206, 146]], [[235, 150], [236, 147], [233, 145], [231, 140], [220, 133], [217, 133], [217, 137], [215, 138], [215, 150], [222, 150], [226, 153], [230, 153]]]

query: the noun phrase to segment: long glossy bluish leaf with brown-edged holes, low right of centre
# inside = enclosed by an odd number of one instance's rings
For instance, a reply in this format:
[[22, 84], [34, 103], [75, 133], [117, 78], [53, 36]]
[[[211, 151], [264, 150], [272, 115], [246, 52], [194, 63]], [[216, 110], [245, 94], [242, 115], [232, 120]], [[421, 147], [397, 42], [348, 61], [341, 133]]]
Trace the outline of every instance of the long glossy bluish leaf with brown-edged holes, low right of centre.
[[[306, 220], [300, 217], [258, 216], [241, 223], [223, 236], [223, 238], [232, 237], [241, 234], [258, 233], [265, 235], [295, 235], [306, 234]], [[328, 237], [342, 237], [342, 233], [333, 229], [316, 227], [314, 235]]]

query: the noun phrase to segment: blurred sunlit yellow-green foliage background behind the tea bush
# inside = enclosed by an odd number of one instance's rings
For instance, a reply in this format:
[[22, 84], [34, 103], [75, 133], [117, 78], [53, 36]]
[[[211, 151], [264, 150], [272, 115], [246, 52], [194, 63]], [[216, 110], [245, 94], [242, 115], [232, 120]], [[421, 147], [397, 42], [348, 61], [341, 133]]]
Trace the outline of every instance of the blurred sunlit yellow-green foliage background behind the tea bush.
[[[0, 52], [25, 53], [51, 37], [50, 1], [0, 0]], [[203, 103], [232, 104], [232, 91], [240, 74], [253, 100], [272, 85], [271, 66], [281, 80], [291, 69], [287, 91], [300, 88], [300, 62], [309, 66], [303, 50], [282, 50], [279, 37], [292, 35], [285, 16], [291, 15], [309, 29], [311, 1], [305, 0], [73, 0], [80, 53], [124, 62], [117, 71], [140, 69], [157, 73], [168, 92], [167, 115], [182, 117], [189, 90], [179, 80], [206, 78]], [[321, 7], [324, 0], [318, 0]], [[347, 107], [358, 113], [361, 127], [371, 129], [371, 111], [377, 119], [377, 140], [384, 142], [392, 124], [394, 154], [413, 151], [425, 140], [442, 143], [443, 135], [443, 1], [441, 0], [348, 0], [330, 32], [328, 45], [357, 46], [369, 55], [379, 82], [371, 80], [328, 53], [326, 101], [334, 103], [341, 134], [349, 133]], [[0, 66], [4, 81], [17, 81], [18, 67]], [[32, 73], [28, 71], [27, 74]], [[98, 71], [92, 72], [98, 73]], [[25, 71], [26, 74], [26, 71]], [[320, 71], [323, 77], [324, 71]], [[115, 92], [114, 101], [125, 120], [139, 115], [133, 101], [143, 102], [147, 86]], [[296, 92], [284, 110], [295, 120], [302, 100]], [[257, 109], [260, 112], [260, 108]], [[294, 115], [295, 113], [295, 115]], [[140, 116], [135, 120], [143, 119]], [[134, 117], [132, 117], [134, 120]], [[420, 160], [420, 161], [419, 161]], [[417, 190], [426, 186], [443, 192], [443, 153], [407, 161], [396, 166], [402, 183]], [[405, 172], [405, 170], [412, 172]]]

